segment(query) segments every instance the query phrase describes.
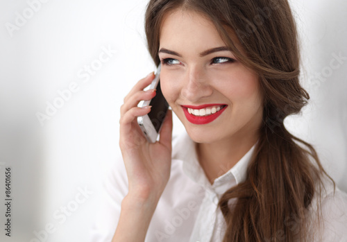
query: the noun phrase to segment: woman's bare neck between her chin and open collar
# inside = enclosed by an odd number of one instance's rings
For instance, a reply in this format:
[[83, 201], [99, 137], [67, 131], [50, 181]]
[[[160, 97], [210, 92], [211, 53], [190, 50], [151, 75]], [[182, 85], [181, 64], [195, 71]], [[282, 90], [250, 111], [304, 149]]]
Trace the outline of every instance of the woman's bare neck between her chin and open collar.
[[258, 135], [221, 140], [211, 144], [197, 143], [198, 161], [211, 184], [230, 170], [257, 142]]

